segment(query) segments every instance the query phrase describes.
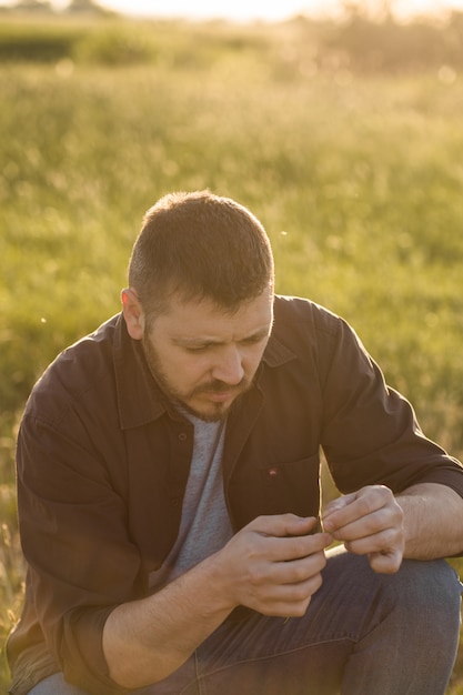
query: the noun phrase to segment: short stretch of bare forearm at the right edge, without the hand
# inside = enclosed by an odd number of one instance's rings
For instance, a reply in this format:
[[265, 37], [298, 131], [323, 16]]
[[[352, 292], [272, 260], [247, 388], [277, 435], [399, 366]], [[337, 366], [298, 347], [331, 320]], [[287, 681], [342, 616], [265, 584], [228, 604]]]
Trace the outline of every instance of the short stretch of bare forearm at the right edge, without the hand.
[[456, 492], [422, 483], [396, 500], [404, 512], [404, 557], [433, 560], [463, 551], [463, 498]]

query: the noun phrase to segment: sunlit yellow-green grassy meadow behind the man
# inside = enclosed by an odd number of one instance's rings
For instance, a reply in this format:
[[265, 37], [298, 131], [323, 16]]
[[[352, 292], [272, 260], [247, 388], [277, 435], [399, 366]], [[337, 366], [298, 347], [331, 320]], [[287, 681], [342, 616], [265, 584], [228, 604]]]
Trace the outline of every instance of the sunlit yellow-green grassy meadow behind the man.
[[[463, 70], [362, 70], [324, 60], [313, 32], [2, 20], [1, 643], [22, 597], [26, 399], [57, 352], [119, 311], [142, 214], [171, 190], [249, 205], [278, 291], [348, 319], [426, 434], [463, 457]], [[4, 49], [14, 37], [26, 59]], [[449, 694], [463, 694], [463, 654]]]

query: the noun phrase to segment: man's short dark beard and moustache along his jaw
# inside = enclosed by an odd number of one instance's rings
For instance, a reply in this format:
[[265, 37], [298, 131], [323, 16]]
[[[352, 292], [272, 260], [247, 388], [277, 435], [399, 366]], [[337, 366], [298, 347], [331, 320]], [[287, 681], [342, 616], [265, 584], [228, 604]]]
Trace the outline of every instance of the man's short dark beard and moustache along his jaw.
[[[241, 382], [233, 386], [218, 379], [211, 379], [194, 386], [191, 391], [182, 391], [172, 384], [162, 367], [161, 359], [154, 345], [147, 334], [143, 335], [142, 345], [150, 372], [169, 401], [174, 405], [180, 405], [187, 413], [204, 422], [218, 422], [227, 417], [230, 409], [235, 405], [239, 400], [239, 396], [251, 387], [252, 380], [243, 376]], [[192, 401], [194, 402], [195, 399], [208, 393], [233, 393], [234, 395], [231, 403], [214, 403], [213, 401], [209, 401], [207, 407], [194, 407], [191, 405]]]

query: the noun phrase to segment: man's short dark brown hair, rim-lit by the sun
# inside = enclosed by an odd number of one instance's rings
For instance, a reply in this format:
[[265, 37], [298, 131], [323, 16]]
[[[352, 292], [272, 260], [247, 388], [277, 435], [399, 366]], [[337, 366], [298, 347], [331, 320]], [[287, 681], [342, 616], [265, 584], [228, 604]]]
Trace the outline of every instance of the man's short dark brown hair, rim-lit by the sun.
[[170, 193], [148, 210], [129, 283], [148, 319], [170, 298], [211, 299], [228, 311], [273, 288], [273, 255], [259, 220], [209, 191]]

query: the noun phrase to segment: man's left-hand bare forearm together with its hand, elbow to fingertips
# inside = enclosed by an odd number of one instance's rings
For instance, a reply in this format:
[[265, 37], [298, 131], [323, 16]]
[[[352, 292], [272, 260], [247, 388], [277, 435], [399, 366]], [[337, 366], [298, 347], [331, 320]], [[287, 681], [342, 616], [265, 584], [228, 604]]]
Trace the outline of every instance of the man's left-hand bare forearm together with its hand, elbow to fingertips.
[[320, 588], [332, 538], [314, 517], [259, 516], [219, 552], [142, 601], [109, 615], [103, 652], [110, 676], [130, 689], [165, 678], [238, 605], [301, 616]]

